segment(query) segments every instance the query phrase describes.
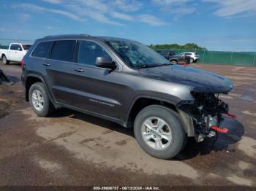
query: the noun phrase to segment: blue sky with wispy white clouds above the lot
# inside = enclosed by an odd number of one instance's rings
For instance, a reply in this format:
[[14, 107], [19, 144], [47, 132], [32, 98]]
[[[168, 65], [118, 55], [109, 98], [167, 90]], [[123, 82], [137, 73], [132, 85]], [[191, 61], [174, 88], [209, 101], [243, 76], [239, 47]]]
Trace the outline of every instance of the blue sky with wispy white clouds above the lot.
[[256, 0], [0, 0], [1, 39], [90, 34], [256, 51]]

